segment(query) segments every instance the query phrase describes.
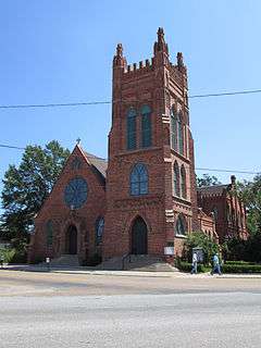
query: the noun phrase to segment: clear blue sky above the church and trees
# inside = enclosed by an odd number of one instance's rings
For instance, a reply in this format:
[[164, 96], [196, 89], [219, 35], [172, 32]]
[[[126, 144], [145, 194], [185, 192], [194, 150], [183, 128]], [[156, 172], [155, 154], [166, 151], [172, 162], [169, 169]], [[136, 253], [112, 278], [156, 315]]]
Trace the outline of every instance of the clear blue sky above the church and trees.
[[[190, 95], [260, 89], [260, 14], [258, 0], [1, 1], [0, 104], [110, 100], [116, 44], [128, 63], [150, 58], [159, 26], [172, 60], [184, 53]], [[260, 101], [261, 94], [190, 100], [196, 166], [261, 171]], [[58, 139], [72, 150], [80, 137], [107, 157], [110, 105], [0, 110], [0, 144]], [[0, 148], [0, 178], [21, 156]]]

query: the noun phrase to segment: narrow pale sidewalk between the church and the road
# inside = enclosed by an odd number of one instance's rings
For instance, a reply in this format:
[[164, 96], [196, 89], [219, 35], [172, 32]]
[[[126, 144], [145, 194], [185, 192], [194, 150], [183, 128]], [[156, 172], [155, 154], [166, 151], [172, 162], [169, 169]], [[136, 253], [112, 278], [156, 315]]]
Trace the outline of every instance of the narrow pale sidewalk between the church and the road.
[[29, 264], [7, 264], [3, 269], [5, 271], [22, 271], [22, 272], [51, 272], [60, 274], [88, 274], [88, 275], [112, 275], [112, 276], [136, 276], [136, 277], [176, 277], [176, 278], [260, 278], [261, 274], [222, 274], [222, 275], [210, 275], [210, 273], [183, 273], [183, 272], [144, 272], [144, 271], [101, 271], [94, 270], [91, 268], [51, 268], [50, 271], [48, 268], [41, 265], [29, 265]]

